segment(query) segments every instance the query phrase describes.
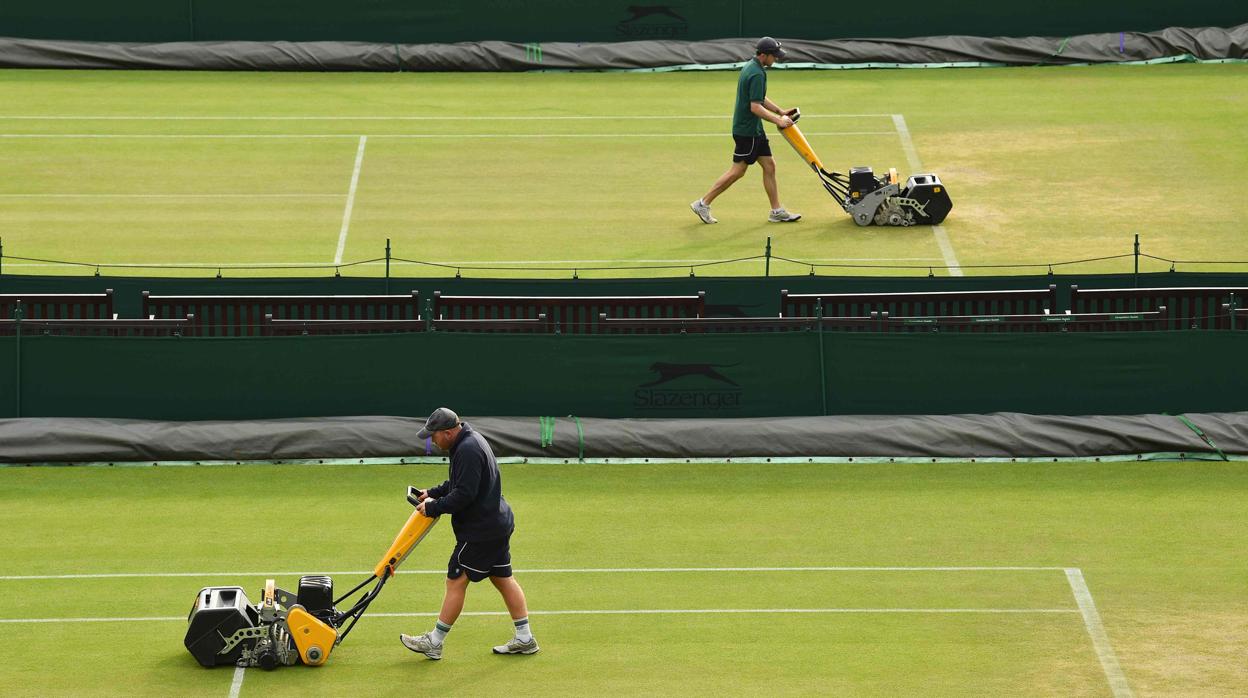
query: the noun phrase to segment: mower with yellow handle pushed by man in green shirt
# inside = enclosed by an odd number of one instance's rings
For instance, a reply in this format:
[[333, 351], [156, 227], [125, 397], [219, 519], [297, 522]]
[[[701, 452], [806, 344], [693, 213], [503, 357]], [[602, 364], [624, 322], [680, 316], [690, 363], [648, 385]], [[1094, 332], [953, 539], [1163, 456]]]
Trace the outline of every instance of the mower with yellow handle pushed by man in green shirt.
[[789, 145], [819, 175], [820, 184], [831, 194], [841, 209], [860, 226], [912, 226], [940, 225], [953, 209], [948, 191], [940, 177], [932, 174], [914, 175], [902, 186], [897, 170], [877, 177], [870, 167], [851, 167], [849, 176], [829, 172], [797, 129], [801, 111], [789, 112], [794, 125], [780, 129]]

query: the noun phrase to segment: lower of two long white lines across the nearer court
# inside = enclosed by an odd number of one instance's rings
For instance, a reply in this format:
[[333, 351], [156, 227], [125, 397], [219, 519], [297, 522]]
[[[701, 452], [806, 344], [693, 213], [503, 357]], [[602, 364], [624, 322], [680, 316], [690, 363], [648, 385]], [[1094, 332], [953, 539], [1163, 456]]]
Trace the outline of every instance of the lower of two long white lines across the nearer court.
[[[725, 616], [749, 613], [931, 613], [931, 614], [1075, 614], [1077, 608], [584, 608], [568, 611], [529, 611], [529, 616]], [[437, 618], [436, 612], [369, 613], [369, 618]], [[508, 616], [507, 611], [466, 611], [461, 616]], [[0, 618], [4, 624], [47, 623], [168, 623], [186, 622], [186, 616], [147, 616], [131, 618]]]

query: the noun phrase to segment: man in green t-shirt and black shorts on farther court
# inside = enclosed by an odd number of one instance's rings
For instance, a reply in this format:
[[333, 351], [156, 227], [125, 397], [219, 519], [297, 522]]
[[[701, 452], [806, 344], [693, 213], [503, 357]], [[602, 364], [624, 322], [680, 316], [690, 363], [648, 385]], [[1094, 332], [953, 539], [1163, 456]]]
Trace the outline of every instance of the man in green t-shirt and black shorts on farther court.
[[763, 132], [763, 120], [775, 124], [781, 129], [792, 126], [790, 119], [797, 110], [784, 110], [768, 99], [768, 74], [765, 69], [771, 67], [784, 57], [784, 49], [780, 42], [770, 36], [764, 36], [754, 47], [754, 57], [741, 69], [741, 76], [736, 81], [736, 106], [733, 110], [733, 166], [720, 175], [710, 191], [705, 196], [689, 205], [698, 214], [704, 224], [718, 222], [710, 215], [710, 202], [716, 196], [733, 186], [733, 184], [745, 176], [745, 170], [758, 162], [763, 166], [763, 189], [768, 191], [771, 201], [771, 214], [768, 221], [774, 224], [790, 224], [801, 219], [800, 214], [791, 214], [780, 205], [780, 191], [776, 187], [776, 161], [771, 157], [771, 146], [768, 136]]

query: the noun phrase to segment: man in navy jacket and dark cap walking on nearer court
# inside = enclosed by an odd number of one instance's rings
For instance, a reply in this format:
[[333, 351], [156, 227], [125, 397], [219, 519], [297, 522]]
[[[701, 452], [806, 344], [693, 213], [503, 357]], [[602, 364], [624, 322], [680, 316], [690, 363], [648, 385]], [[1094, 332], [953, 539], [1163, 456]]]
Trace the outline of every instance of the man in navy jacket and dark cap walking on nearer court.
[[535, 654], [538, 641], [529, 628], [524, 589], [512, 577], [510, 538], [515, 529], [512, 507], [503, 498], [498, 461], [485, 438], [446, 407], [429, 415], [417, 437], [451, 453], [451, 478], [421, 489], [417, 511], [428, 517], [451, 514], [456, 549], [447, 566], [447, 593], [433, 629], [419, 636], [399, 634], [403, 647], [442, 659], [442, 644], [464, 609], [469, 582], [489, 579], [503, 596], [515, 626], [515, 637], [494, 648], [494, 654]]

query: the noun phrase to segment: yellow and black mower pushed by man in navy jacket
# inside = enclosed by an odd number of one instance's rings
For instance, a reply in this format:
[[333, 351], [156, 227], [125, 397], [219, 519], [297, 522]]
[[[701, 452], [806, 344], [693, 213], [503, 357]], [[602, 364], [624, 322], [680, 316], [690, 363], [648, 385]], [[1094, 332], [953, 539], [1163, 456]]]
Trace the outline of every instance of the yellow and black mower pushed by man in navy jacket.
[[[417, 504], [414, 487], [408, 502]], [[281, 666], [318, 667], [342, 644], [368, 604], [377, 598], [386, 581], [433, 528], [436, 518], [421, 512], [403, 524], [389, 549], [373, 569], [372, 577], [339, 598], [333, 597], [333, 579], [324, 574], [300, 578], [296, 593], [277, 588], [273, 579], [261, 589], [260, 603], [252, 604], [242, 587], [205, 587], [195, 597], [190, 626], [183, 643], [205, 667], [236, 666], [275, 669]], [[346, 611], [347, 599], [363, 592]]]

